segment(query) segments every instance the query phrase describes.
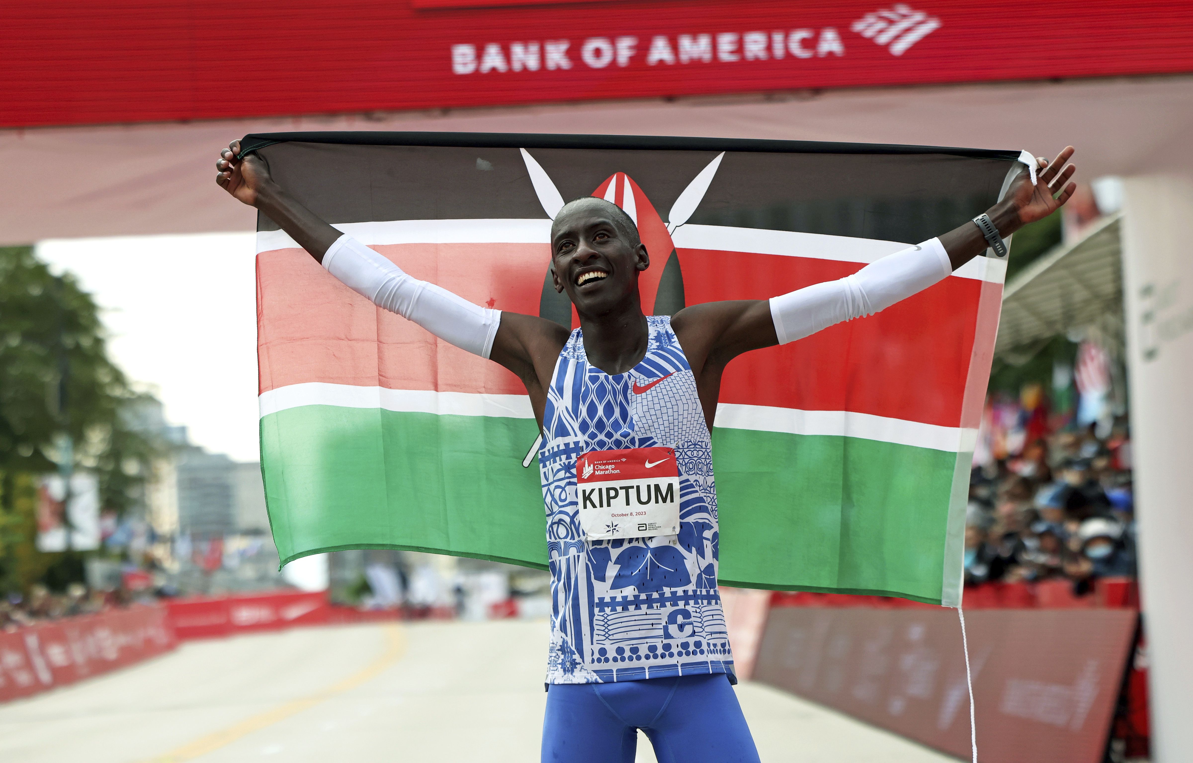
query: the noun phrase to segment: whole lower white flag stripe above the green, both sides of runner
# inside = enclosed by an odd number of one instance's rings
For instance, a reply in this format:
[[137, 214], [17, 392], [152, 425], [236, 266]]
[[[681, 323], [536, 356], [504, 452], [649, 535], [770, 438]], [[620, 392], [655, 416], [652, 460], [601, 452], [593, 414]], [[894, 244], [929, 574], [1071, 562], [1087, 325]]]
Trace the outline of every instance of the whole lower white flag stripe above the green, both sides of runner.
[[[305, 405], [376, 408], [397, 412], [452, 416], [533, 418], [525, 395], [476, 395], [429, 390], [389, 390], [379, 386], [311, 382], [278, 387], [260, 396], [261, 417]], [[717, 405], [716, 426], [784, 434], [830, 435], [878, 440], [935, 451], [970, 452], [977, 429], [939, 427], [902, 418], [841, 410], [797, 410], [769, 405]]]

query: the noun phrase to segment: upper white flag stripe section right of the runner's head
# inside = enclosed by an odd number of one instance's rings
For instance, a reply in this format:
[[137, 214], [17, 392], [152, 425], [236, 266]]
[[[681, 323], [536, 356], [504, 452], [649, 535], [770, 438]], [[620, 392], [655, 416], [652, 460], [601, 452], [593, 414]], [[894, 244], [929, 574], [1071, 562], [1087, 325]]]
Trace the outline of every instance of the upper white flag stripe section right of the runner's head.
[[[696, 224], [680, 225], [672, 234], [672, 241], [675, 242], [676, 248], [681, 249], [746, 252], [812, 260], [865, 262], [867, 265], [908, 247], [908, 244], [897, 241], [880, 241], [878, 238]], [[953, 275], [1001, 284], [1007, 277], [1007, 262], [978, 256], [953, 271]]]

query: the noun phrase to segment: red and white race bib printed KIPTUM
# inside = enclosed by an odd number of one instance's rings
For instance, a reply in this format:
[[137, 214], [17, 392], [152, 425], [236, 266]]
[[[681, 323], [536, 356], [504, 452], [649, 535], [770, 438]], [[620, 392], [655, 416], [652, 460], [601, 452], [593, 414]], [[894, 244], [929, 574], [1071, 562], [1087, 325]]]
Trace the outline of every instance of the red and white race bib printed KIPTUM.
[[588, 451], [576, 459], [580, 526], [589, 540], [679, 533], [672, 448]]

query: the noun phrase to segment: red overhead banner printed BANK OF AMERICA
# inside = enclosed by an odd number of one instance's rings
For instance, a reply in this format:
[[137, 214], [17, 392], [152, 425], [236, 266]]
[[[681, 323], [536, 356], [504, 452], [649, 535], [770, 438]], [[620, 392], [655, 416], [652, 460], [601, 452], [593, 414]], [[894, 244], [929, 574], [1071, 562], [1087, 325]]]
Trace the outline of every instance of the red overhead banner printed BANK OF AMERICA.
[[[494, 6], [514, 7], [494, 7]], [[1109, 0], [0, 5], [0, 126], [1193, 70], [1193, 6]], [[635, 132], [633, 125], [593, 132]]]

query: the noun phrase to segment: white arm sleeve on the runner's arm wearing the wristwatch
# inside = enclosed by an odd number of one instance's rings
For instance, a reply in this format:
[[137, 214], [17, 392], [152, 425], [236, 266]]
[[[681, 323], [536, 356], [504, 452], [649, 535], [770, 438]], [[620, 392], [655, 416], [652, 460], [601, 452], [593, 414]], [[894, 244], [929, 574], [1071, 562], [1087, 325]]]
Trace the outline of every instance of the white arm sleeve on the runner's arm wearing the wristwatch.
[[774, 333], [779, 343], [786, 345], [834, 323], [873, 315], [932, 286], [952, 269], [939, 238], [888, 254], [853, 275], [772, 297]]

